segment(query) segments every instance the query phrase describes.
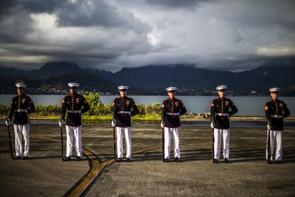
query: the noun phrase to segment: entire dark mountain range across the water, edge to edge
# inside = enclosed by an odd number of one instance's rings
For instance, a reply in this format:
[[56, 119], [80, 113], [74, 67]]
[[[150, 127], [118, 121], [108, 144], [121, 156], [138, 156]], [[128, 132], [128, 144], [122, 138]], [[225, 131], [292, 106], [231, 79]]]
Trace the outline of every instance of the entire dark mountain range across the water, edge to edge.
[[[73, 62], [48, 62], [39, 70], [19, 71], [2, 68], [0, 93], [9, 91], [17, 82], [39, 88], [36, 93], [45, 94], [44, 88], [67, 89], [69, 82], [77, 82], [87, 90], [112, 92], [118, 85], [127, 85], [129, 92], [137, 95], [162, 95], [167, 87], [175, 86], [184, 95], [209, 95], [219, 85], [227, 85], [228, 92], [267, 93], [268, 88], [279, 87], [282, 92], [295, 95], [295, 66], [261, 66], [242, 72], [210, 71], [193, 66], [166, 65], [123, 68], [121, 71], [82, 69]], [[10, 89], [11, 90], [11, 89]], [[191, 92], [191, 93], [190, 93]], [[198, 93], [200, 92], [200, 93]], [[180, 95], [181, 92], [178, 92]]]

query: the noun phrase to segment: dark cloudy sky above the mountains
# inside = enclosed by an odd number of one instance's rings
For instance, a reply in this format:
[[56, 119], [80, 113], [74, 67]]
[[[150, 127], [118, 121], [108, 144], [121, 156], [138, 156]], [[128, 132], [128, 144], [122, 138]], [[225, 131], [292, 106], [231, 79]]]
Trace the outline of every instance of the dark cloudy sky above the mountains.
[[0, 67], [293, 64], [294, 0], [0, 0]]

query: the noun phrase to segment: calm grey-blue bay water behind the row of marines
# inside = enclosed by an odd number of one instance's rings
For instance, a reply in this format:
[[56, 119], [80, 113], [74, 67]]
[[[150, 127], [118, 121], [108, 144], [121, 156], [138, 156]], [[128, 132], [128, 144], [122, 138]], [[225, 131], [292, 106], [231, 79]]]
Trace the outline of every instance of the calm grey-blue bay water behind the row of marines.
[[[0, 95], [0, 103], [2, 105], [10, 105], [12, 97], [16, 95]], [[31, 97], [35, 105], [61, 105], [61, 102], [65, 95], [28, 95]], [[128, 96], [128, 95], [127, 95]], [[101, 95], [101, 102], [104, 104], [113, 103], [114, 99], [119, 95]], [[135, 103], [151, 105], [156, 102], [160, 102], [162, 105], [163, 100], [168, 98], [167, 96], [130, 96]], [[177, 96], [186, 107], [186, 110], [190, 113], [206, 113], [210, 111], [212, 100], [217, 96]], [[226, 96], [227, 97], [227, 96]], [[228, 96], [234, 104], [237, 106], [237, 115], [243, 116], [263, 116], [265, 115], [264, 107], [265, 103], [271, 100], [271, 97], [234, 97]], [[279, 100], [283, 100], [291, 111], [291, 115], [294, 116], [295, 105], [291, 105], [295, 101], [295, 97], [279, 97]]]

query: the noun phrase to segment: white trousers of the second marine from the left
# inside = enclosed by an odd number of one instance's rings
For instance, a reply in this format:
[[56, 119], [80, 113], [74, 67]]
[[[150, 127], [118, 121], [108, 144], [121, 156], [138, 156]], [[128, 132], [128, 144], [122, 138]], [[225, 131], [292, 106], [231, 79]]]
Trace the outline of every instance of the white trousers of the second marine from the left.
[[82, 157], [82, 140], [81, 140], [81, 125], [80, 126], [65, 126], [67, 130], [67, 156], [72, 157], [73, 151], [73, 136], [75, 142], [75, 151], [78, 157]]

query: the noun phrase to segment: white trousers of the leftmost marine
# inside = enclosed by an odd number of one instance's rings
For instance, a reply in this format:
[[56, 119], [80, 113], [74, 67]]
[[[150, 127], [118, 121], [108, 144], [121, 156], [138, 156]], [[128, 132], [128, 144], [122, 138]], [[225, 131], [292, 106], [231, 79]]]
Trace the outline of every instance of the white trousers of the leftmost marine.
[[13, 125], [15, 134], [15, 152], [16, 156], [22, 156], [22, 134], [24, 136], [24, 157], [29, 157], [30, 146], [30, 124]]

